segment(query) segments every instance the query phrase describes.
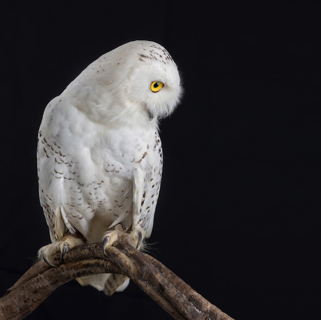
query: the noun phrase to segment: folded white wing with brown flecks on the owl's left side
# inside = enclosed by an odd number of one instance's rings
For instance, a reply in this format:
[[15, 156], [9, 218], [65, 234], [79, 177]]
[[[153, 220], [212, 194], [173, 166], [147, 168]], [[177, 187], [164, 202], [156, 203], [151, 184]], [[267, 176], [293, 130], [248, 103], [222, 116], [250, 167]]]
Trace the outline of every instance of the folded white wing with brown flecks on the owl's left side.
[[[45, 109], [38, 133], [39, 200], [52, 242], [61, 240], [68, 231], [75, 234], [78, 230], [84, 234], [88, 228], [86, 220], [93, 215], [77, 176], [77, 161], [73, 156], [77, 152], [72, 149], [72, 143], [67, 143], [68, 152], [65, 148], [64, 139], [71, 134], [62, 110], [68, 110], [69, 104], [67, 99], [54, 98]], [[81, 139], [73, 137], [73, 143], [78, 149], [84, 149]]]

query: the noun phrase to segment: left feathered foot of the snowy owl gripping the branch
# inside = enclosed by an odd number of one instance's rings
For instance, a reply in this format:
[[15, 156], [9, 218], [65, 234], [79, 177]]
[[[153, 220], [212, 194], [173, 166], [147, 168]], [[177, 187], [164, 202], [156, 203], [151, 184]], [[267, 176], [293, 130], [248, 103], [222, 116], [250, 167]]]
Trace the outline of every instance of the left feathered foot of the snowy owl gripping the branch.
[[[61, 241], [50, 243], [47, 246], [44, 246], [41, 249], [39, 249], [38, 259], [44, 259], [44, 261], [48, 263], [48, 265], [51, 267], [58, 266], [61, 263], [64, 263], [65, 255], [69, 249], [79, 246], [81, 244], [84, 244], [83, 239], [68, 235], [64, 237]], [[52, 257], [56, 252], [59, 251], [62, 253], [61, 261], [53, 262], [52, 259], [50, 259], [50, 257]]]

